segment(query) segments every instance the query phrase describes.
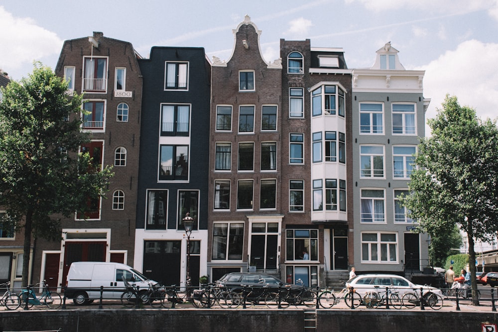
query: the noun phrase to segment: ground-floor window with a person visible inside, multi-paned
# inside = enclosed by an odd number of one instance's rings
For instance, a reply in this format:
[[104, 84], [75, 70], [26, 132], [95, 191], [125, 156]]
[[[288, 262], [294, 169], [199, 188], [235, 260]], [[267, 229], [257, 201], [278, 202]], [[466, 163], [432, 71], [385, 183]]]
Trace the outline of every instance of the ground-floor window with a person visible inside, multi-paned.
[[303, 252], [309, 253], [310, 260], [318, 260], [318, 230], [317, 229], [286, 229], [285, 259], [303, 259]]

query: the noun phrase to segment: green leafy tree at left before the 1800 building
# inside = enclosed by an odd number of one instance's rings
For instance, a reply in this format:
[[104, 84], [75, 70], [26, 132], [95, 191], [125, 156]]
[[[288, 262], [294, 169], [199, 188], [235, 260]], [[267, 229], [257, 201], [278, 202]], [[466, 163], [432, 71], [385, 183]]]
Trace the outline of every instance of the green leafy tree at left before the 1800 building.
[[82, 97], [37, 63], [28, 78], [12, 81], [0, 101], [0, 206], [3, 229], [24, 229], [22, 285], [28, 284], [32, 237], [61, 239], [61, 218], [84, 213], [91, 198], [104, 195], [111, 168], [92, 167], [78, 154]]

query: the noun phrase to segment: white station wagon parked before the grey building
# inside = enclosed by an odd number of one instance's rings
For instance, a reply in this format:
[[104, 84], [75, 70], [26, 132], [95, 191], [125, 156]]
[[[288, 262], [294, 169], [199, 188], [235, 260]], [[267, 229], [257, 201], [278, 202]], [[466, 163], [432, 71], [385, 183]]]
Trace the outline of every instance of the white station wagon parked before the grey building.
[[420, 288], [423, 288], [424, 295], [427, 292], [442, 295], [441, 290], [438, 288], [426, 285], [417, 285], [395, 274], [361, 274], [346, 282], [346, 287], [354, 287], [355, 291], [362, 297], [365, 293], [373, 291], [376, 288], [378, 288], [378, 291], [385, 291], [385, 287], [389, 287], [391, 285], [395, 291], [399, 292], [400, 297], [405, 293], [420, 291]]

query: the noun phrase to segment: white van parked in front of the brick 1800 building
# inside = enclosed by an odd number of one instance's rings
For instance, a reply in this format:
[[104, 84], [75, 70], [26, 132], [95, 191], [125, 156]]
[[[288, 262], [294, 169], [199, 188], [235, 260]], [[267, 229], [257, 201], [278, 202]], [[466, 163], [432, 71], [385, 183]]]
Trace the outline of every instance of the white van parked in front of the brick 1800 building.
[[125, 264], [73, 262], [67, 273], [64, 295], [73, 299], [74, 304], [81, 306], [100, 299], [100, 287], [103, 286], [103, 299], [119, 300], [125, 290], [123, 277], [143, 290], [148, 289], [149, 283], [157, 284]]

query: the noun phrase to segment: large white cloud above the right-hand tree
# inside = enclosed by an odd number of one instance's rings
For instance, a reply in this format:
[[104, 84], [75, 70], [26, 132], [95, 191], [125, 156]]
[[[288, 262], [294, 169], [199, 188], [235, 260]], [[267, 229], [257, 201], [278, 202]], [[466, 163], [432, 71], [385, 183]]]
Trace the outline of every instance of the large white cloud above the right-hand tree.
[[498, 44], [468, 40], [418, 68], [425, 70], [424, 97], [432, 99], [426, 119], [435, 117], [446, 94], [456, 96], [460, 105], [475, 109], [482, 119], [497, 118], [497, 63]]

